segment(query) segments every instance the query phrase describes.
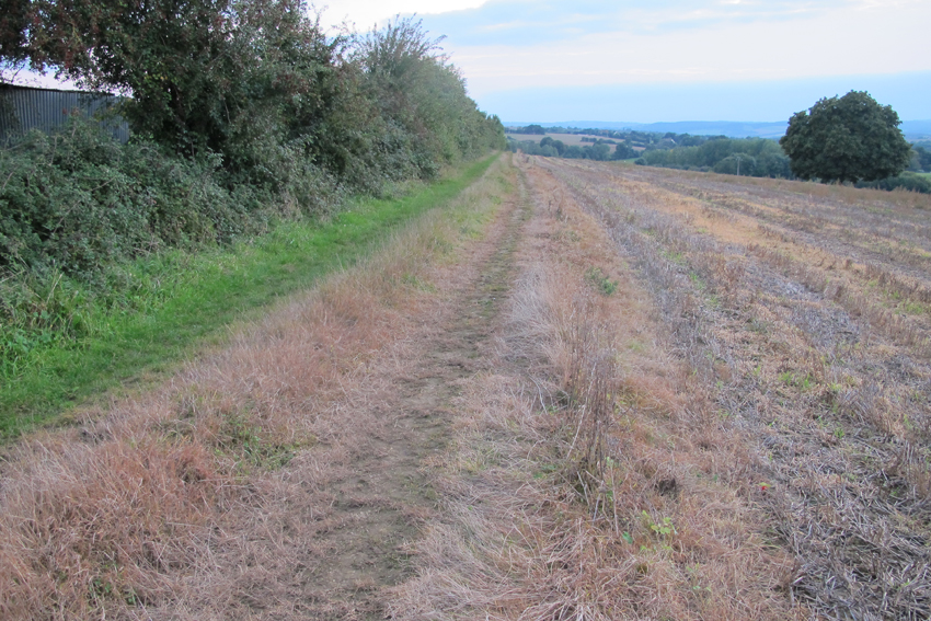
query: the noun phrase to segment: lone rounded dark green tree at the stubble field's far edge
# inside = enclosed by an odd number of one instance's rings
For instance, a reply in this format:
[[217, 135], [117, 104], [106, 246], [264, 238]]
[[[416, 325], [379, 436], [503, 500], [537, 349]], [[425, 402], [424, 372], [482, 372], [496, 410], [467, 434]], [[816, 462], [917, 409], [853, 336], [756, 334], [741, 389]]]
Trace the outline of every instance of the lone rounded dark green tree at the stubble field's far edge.
[[850, 91], [795, 113], [779, 143], [801, 179], [875, 181], [908, 165], [911, 147], [900, 123], [892, 106], [880, 105], [866, 92]]

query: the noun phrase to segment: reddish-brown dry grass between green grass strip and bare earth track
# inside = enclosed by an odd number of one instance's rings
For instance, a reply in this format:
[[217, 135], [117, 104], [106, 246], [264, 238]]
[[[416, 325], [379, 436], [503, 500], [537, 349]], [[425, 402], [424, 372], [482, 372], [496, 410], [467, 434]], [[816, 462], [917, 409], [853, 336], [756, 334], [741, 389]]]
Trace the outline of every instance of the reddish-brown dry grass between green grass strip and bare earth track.
[[301, 564], [344, 526], [327, 485], [388, 424], [384, 369], [447, 312], [505, 165], [165, 386], [5, 448], [0, 618], [303, 618]]

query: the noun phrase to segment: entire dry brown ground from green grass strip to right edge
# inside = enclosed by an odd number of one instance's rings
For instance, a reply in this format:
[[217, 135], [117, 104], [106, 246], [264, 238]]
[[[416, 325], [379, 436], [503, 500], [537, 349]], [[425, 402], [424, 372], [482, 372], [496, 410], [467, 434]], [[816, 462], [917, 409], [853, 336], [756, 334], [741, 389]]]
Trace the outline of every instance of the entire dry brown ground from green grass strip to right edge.
[[0, 618], [931, 617], [931, 198], [505, 154], [0, 453]]

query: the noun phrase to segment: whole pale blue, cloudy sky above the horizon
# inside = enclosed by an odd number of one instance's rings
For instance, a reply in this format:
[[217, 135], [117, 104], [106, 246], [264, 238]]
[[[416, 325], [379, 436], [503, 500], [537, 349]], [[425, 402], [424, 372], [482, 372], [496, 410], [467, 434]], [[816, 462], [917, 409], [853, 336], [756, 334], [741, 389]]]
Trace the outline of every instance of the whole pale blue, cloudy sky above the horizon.
[[323, 23], [415, 14], [504, 120], [772, 122], [869, 91], [931, 119], [929, 0], [345, 0]]

